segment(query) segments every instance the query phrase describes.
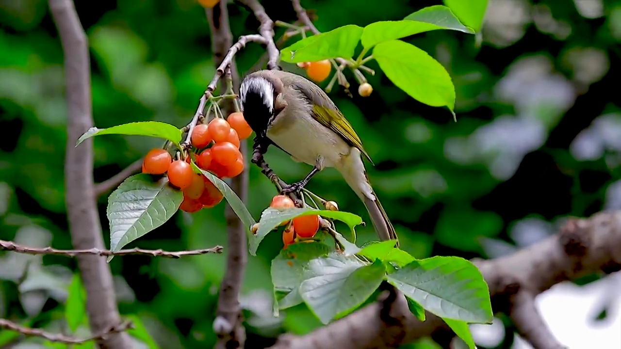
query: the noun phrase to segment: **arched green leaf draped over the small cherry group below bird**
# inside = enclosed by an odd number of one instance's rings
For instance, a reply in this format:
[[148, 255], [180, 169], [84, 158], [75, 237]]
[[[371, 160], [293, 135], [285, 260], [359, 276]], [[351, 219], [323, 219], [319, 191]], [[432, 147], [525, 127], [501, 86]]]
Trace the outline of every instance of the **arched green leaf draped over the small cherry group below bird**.
[[362, 223], [360, 216], [342, 211], [329, 211], [329, 210], [317, 210], [311, 208], [304, 209], [274, 209], [268, 207], [261, 213], [261, 219], [259, 220], [259, 229], [255, 235], [250, 237], [250, 254], [256, 256], [256, 250], [259, 244], [268, 235], [269, 232], [276, 229], [282, 222], [290, 219], [294, 219], [300, 215], [318, 214], [322, 217], [338, 219], [350, 227], [351, 230], [358, 224]]

